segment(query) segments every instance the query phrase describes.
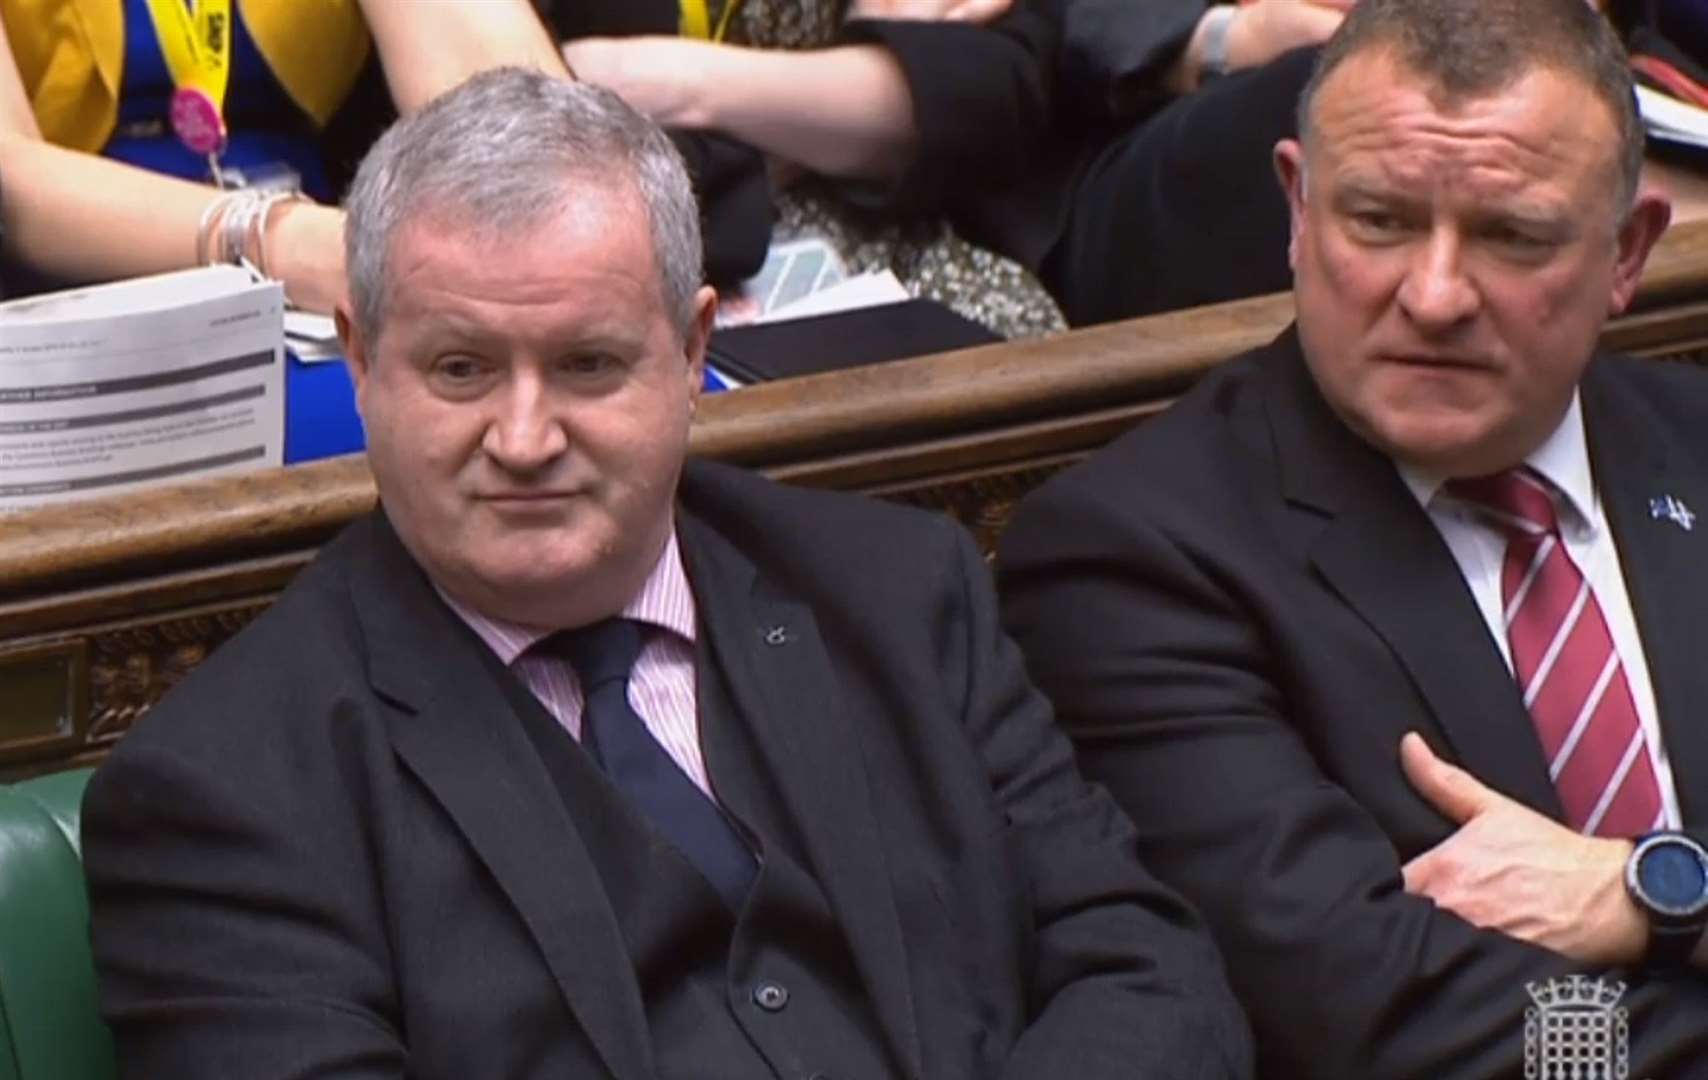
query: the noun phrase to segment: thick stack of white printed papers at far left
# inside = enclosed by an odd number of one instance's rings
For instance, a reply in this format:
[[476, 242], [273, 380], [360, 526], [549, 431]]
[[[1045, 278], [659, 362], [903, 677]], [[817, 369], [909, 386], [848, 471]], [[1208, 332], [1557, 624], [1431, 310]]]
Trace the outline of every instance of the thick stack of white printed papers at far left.
[[237, 267], [0, 304], [0, 511], [280, 465], [284, 311]]

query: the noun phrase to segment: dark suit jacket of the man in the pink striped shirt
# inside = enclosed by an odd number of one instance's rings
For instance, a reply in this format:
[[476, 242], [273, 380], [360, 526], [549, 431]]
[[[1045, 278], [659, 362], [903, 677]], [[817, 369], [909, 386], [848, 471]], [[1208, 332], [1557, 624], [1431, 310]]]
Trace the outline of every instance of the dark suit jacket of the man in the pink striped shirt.
[[[678, 535], [736, 713], [702, 692], [711, 774], [746, 725], [902, 1073], [1247, 1071], [960, 530], [690, 463]], [[84, 807], [125, 1075], [654, 1075], [598, 824], [480, 648], [376, 514], [125, 738]]]

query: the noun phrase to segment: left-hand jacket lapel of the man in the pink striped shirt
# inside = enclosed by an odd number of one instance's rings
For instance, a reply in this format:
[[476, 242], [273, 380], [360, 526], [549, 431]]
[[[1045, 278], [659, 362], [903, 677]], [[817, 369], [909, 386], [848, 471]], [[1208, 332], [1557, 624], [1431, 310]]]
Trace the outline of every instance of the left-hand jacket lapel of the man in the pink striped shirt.
[[617, 1080], [652, 1075], [646, 1012], [617, 918], [562, 800], [528, 743], [497, 660], [444, 607], [381, 516], [354, 584], [371, 680], [405, 716], [398, 757], [446, 808], [545, 955]]

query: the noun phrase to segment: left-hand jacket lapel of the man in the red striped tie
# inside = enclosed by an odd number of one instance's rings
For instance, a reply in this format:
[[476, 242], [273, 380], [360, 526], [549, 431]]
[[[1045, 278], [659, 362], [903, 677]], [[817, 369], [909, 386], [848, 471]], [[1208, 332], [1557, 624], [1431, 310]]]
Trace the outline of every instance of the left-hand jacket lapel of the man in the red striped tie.
[[1392, 649], [1459, 762], [1558, 819], [1524, 699], [1435, 525], [1392, 461], [1329, 410], [1295, 337], [1264, 364], [1283, 494], [1293, 513], [1327, 518], [1308, 549], [1317, 572]]

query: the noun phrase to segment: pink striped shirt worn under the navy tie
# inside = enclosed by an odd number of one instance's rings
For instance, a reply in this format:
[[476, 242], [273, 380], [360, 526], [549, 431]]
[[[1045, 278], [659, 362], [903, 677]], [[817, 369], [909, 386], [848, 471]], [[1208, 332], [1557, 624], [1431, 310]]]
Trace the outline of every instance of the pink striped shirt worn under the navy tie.
[[[442, 591], [439, 595], [579, 742], [582, 699], [576, 670], [553, 656], [528, 651], [552, 631], [488, 619]], [[681, 766], [700, 791], [712, 795], [705, 776], [705, 755], [700, 752], [700, 714], [693, 677], [693, 590], [688, 588], [675, 533], [670, 535], [670, 543], [664, 545], [664, 554], [659, 555], [646, 584], [623, 607], [622, 617], [647, 627], [640, 656], [629, 673], [629, 704], [671, 760]]]

